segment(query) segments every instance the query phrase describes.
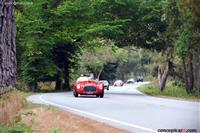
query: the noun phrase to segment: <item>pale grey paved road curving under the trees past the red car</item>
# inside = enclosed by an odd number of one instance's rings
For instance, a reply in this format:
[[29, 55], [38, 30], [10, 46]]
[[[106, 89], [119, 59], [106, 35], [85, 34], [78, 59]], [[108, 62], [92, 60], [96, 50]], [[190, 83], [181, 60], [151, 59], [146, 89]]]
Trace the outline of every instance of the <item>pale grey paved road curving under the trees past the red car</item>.
[[183, 128], [200, 132], [200, 103], [147, 96], [136, 89], [142, 84], [110, 87], [104, 98], [74, 98], [68, 92], [33, 95], [28, 101], [57, 106], [134, 133]]

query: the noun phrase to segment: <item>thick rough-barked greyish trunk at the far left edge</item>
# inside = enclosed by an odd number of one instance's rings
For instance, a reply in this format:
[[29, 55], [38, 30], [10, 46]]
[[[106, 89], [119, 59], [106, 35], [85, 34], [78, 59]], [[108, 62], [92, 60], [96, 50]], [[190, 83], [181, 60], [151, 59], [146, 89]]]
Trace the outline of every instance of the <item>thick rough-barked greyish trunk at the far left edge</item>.
[[16, 83], [16, 45], [13, 0], [0, 0], [0, 88]]

